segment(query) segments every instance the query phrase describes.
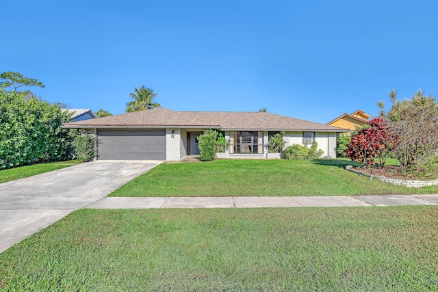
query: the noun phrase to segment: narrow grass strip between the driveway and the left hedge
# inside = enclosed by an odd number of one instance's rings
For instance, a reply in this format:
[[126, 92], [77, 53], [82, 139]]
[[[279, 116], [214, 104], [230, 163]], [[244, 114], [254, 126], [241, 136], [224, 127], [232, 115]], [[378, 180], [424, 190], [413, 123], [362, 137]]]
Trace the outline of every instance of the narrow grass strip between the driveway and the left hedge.
[[81, 163], [77, 160], [61, 161], [52, 163], [42, 163], [35, 165], [21, 166], [19, 168], [11, 168], [10, 170], [0, 170], [0, 183], [6, 183], [8, 181], [15, 181], [19, 178], [25, 178], [34, 176], [36, 174], [42, 174], [44, 172], [51, 172], [52, 170], [59, 170], [61, 168], [68, 168], [68, 166]]

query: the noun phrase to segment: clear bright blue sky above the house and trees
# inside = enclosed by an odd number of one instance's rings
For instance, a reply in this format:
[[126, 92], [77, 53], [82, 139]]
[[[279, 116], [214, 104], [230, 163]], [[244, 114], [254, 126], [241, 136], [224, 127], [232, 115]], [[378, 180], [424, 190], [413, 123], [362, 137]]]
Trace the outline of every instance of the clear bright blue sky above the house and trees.
[[125, 112], [141, 85], [174, 110], [326, 123], [388, 92], [438, 94], [438, 1], [6, 1], [0, 71], [73, 108]]

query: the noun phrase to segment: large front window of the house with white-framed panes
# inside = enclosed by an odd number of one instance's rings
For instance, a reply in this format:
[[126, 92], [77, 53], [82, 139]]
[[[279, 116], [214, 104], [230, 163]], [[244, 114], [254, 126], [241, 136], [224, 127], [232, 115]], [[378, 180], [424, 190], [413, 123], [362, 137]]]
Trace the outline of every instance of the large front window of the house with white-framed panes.
[[230, 132], [230, 153], [263, 153], [263, 132]]

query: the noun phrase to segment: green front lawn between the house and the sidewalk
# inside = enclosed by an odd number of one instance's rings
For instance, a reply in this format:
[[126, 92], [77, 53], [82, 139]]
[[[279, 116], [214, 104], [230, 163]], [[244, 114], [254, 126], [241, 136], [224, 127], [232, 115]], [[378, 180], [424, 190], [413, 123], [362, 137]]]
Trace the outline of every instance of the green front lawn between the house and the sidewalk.
[[438, 186], [409, 188], [359, 176], [345, 159], [217, 160], [164, 163], [110, 196], [353, 196], [438, 194]]

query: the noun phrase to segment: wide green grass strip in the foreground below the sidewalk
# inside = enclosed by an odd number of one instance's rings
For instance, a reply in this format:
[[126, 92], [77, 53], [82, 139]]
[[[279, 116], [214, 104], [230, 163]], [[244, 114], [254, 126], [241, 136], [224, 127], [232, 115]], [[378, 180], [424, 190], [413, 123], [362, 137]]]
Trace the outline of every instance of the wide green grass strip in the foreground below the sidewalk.
[[2, 291], [437, 291], [438, 208], [81, 209], [0, 254]]

